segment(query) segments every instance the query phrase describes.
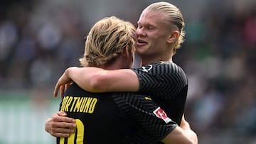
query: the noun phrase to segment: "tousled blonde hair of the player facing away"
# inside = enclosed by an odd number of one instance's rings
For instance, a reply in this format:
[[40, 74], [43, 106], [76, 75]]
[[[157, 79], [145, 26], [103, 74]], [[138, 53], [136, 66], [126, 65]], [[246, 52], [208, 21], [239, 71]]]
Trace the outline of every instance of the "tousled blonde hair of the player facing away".
[[110, 64], [119, 57], [128, 45], [129, 51], [135, 45], [135, 27], [132, 23], [111, 16], [103, 18], [92, 26], [85, 41], [85, 53], [80, 58], [83, 67], [99, 67]]

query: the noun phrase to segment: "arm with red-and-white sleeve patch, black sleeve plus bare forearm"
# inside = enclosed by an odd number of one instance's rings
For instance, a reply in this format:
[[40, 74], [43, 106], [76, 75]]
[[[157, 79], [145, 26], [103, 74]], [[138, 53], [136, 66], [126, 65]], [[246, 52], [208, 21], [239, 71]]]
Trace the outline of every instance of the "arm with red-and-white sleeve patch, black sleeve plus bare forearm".
[[[147, 98], [147, 99], [146, 99]], [[130, 135], [134, 143], [136, 140], [147, 140], [146, 143], [161, 140], [163, 143], [197, 144], [197, 135], [183, 117], [181, 127], [169, 118], [148, 95], [136, 93], [121, 93], [114, 96], [118, 100], [117, 106], [132, 118], [137, 124], [137, 131]], [[144, 138], [144, 139], [140, 139]]]

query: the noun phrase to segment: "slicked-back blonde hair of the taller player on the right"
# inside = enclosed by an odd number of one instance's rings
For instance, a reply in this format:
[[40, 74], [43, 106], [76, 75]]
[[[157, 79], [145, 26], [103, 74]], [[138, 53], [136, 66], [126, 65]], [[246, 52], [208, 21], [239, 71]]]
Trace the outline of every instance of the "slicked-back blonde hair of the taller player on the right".
[[181, 43], [183, 43], [185, 36], [185, 31], [183, 31], [185, 23], [183, 21], [181, 11], [173, 4], [164, 1], [156, 2], [154, 4], [149, 5], [146, 7], [146, 9], [144, 9], [144, 11], [159, 11], [166, 13], [166, 20], [171, 26], [171, 28], [173, 28], [173, 26], [176, 26], [178, 28], [180, 35], [173, 49], [173, 53], [175, 54], [176, 49], [181, 47]]

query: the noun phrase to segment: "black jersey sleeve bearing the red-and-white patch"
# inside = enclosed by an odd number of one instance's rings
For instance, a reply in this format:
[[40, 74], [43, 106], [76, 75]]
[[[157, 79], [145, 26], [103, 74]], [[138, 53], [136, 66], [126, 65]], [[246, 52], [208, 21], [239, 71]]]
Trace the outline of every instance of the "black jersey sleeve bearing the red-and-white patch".
[[177, 126], [150, 96], [127, 92], [115, 95], [114, 100], [139, 127], [136, 134], [127, 137], [129, 143], [135, 143], [131, 140], [137, 140], [136, 143], [138, 140], [161, 140]]

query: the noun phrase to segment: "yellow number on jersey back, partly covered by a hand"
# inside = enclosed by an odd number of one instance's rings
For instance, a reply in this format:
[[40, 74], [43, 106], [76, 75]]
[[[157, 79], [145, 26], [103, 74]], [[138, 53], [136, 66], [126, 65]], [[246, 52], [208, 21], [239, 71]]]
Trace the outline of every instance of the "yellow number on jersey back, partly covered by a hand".
[[[83, 143], [85, 127], [82, 121], [80, 121], [80, 119], [75, 119], [75, 124], [77, 125], [77, 131], [76, 133], [72, 133], [68, 137], [68, 144], [73, 144], [75, 143], [75, 141], [76, 141], [76, 144]], [[76, 139], [75, 139], [75, 135], [76, 135]], [[60, 144], [64, 144], [64, 140], [65, 138], [60, 138]]]

